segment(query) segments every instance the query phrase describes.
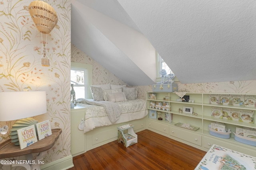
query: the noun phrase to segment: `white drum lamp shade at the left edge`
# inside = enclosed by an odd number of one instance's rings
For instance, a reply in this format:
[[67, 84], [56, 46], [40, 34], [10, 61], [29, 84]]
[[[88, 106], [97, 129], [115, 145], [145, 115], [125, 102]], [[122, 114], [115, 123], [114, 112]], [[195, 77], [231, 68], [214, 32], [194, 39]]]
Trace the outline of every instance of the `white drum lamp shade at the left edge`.
[[0, 93], [0, 121], [23, 119], [46, 112], [46, 92]]

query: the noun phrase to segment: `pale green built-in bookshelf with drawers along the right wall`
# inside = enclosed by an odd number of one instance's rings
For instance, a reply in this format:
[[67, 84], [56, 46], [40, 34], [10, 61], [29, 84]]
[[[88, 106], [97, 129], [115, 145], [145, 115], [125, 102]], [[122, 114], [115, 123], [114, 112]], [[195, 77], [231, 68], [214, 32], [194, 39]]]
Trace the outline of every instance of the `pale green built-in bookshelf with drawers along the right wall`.
[[[176, 93], [146, 92], [146, 105], [149, 111], [148, 129], [201, 150], [207, 151], [216, 144], [256, 156], [256, 147], [237, 141], [234, 134], [237, 127], [256, 128], [254, 121], [256, 94], [187, 92], [183, 95], [185, 96], [180, 98]], [[234, 110], [239, 112], [238, 115]], [[150, 112], [154, 111], [156, 116], [150, 117]], [[168, 115], [168, 121], [165, 115]], [[159, 120], [158, 117], [162, 119]], [[209, 129], [212, 122], [224, 123], [226, 129], [231, 132], [230, 137], [224, 139], [222, 136], [212, 135]]]

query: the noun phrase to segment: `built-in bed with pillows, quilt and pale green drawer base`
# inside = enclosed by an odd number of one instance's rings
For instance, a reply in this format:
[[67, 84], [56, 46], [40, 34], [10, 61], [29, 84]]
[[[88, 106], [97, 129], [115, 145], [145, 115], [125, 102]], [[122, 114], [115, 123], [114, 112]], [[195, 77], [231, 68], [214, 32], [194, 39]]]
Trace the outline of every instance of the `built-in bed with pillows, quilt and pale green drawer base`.
[[71, 109], [72, 156], [117, 140], [120, 125], [134, 125], [135, 133], [146, 129], [148, 110], [146, 100], [138, 98], [138, 88], [100, 84], [90, 90], [93, 99], [76, 99]]

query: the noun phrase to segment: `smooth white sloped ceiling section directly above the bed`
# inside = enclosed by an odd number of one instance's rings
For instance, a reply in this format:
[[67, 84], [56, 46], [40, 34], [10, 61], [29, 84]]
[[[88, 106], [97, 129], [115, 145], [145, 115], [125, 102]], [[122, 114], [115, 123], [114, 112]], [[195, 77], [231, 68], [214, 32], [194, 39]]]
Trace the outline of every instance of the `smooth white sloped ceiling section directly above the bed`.
[[[124, 18], [127, 25], [96, 11], [100, 10], [97, 2], [72, 1], [72, 43], [128, 85], [154, 84], [156, 51], [152, 44], [142, 33], [135, 30], [138, 28], [127, 17], [126, 12], [118, 10], [120, 6], [116, 6], [116, 1], [108, 2], [114, 6], [112, 10], [117, 18]], [[109, 10], [108, 6], [111, 5], [104, 2], [101, 5]]]

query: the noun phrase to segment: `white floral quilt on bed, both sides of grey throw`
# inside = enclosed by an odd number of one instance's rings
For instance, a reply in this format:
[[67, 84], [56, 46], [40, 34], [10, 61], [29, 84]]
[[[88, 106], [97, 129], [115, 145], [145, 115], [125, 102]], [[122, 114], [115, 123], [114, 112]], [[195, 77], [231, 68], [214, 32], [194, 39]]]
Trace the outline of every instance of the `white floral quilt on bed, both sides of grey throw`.
[[121, 108], [121, 115], [116, 122], [112, 123], [104, 107], [78, 103], [78, 105], [85, 107], [84, 133], [96, 127], [142, 119], [148, 115], [146, 100], [128, 100], [125, 102], [116, 102], [116, 104]]

